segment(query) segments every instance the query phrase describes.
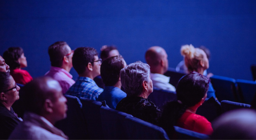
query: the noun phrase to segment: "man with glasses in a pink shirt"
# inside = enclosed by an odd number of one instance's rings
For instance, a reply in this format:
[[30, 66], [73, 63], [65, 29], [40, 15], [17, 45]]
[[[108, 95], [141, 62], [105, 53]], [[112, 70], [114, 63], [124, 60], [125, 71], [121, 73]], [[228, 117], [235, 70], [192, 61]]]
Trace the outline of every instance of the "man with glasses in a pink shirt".
[[48, 48], [51, 67], [45, 76], [57, 80], [65, 93], [71, 85], [75, 83], [72, 75], [69, 73], [72, 66], [72, 57], [74, 51], [71, 50], [66, 42], [55, 42]]

